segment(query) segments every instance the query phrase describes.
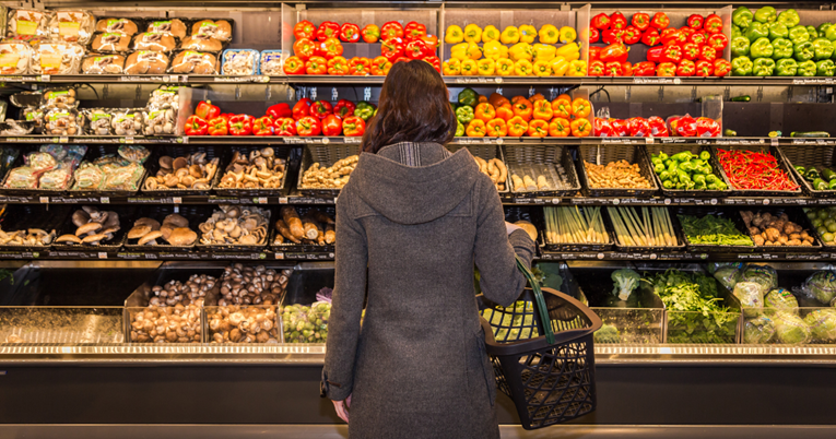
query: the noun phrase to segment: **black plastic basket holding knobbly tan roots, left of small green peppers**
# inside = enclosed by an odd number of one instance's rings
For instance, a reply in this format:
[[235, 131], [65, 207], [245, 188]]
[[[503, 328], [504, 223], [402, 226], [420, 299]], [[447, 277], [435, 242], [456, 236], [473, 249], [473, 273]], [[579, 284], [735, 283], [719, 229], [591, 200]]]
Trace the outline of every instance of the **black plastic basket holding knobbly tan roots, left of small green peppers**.
[[[641, 151], [641, 145], [579, 145], [578, 167], [587, 197], [652, 197], [659, 191], [659, 186], [654, 177], [654, 168], [650, 166], [647, 155]], [[627, 161], [638, 164], [639, 174], [645, 177], [651, 189], [622, 189], [622, 188], [591, 188], [587, 166], [584, 163], [607, 165], [611, 162]]]

